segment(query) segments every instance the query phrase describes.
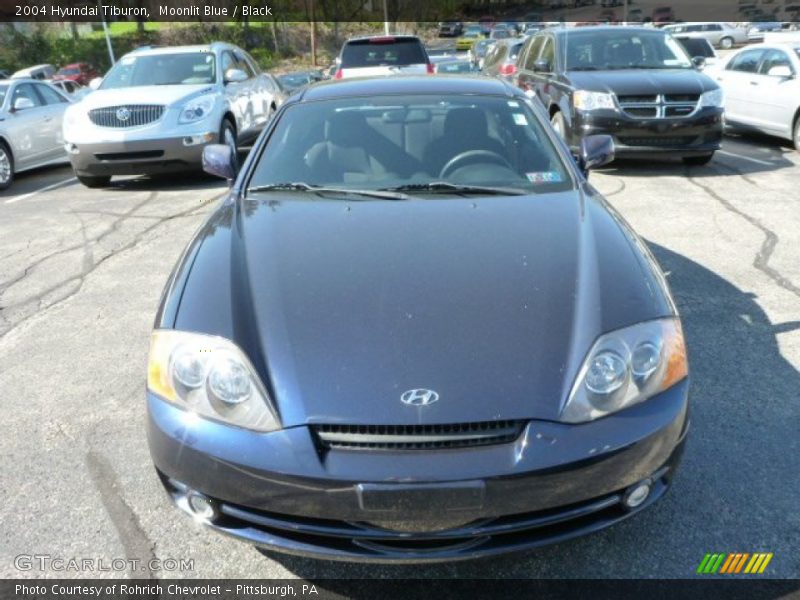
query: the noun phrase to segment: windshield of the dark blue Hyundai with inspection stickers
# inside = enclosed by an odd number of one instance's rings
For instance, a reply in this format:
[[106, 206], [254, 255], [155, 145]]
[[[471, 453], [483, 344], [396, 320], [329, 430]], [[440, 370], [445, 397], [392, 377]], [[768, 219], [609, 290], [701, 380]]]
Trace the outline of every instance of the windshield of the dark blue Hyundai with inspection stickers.
[[529, 100], [437, 94], [291, 106], [248, 188], [303, 183], [414, 193], [442, 182], [522, 193], [574, 185]]

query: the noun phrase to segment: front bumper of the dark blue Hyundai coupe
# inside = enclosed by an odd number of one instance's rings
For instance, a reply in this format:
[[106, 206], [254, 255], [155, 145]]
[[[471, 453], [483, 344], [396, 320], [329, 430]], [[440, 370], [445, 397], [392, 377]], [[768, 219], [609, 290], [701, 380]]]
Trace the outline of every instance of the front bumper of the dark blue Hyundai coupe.
[[[680, 461], [687, 390], [582, 425], [531, 421], [509, 444], [407, 452], [325, 450], [309, 427], [249, 432], [148, 394], [148, 438], [172, 500], [188, 512], [189, 491], [213, 499], [206, 525], [220, 533], [328, 559], [453, 560], [591, 533], [658, 500]], [[647, 500], [624, 508], [647, 478]]]

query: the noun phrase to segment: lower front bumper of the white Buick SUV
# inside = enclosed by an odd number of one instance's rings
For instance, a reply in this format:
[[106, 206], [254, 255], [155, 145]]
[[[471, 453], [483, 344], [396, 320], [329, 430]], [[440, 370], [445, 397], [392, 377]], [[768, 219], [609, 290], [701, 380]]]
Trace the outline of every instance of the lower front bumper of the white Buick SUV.
[[[203, 148], [217, 142], [217, 132], [187, 133], [180, 137], [68, 143], [72, 168], [78, 175], [144, 175], [199, 168]], [[192, 143], [186, 142], [191, 140]]]

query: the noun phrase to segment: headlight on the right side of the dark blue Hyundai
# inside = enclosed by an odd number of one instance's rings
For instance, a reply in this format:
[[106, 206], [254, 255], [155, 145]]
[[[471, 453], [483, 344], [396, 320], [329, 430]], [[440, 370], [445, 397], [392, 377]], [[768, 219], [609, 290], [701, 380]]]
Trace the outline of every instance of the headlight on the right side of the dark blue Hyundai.
[[607, 333], [595, 342], [572, 386], [561, 420], [582, 423], [647, 400], [688, 374], [678, 319]]

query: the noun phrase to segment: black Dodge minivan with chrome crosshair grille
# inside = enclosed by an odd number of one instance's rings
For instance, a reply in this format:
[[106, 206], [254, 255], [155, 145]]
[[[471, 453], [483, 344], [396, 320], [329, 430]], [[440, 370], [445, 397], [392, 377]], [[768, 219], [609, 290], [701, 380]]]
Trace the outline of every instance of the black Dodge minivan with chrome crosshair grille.
[[614, 137], [619, 156], [705, 164], [722, 139], [722, 92], [669, 34], [640, 27], [551, 29], [530, 38], [514, 79], [575, 149]]

